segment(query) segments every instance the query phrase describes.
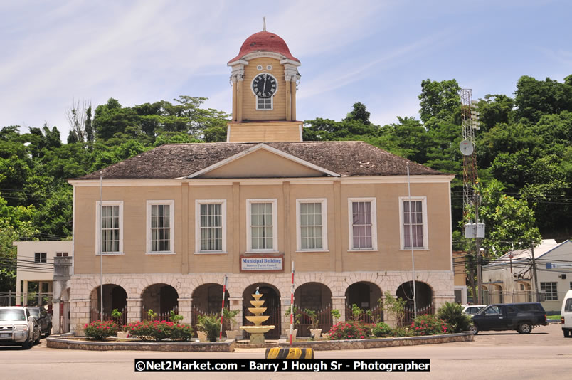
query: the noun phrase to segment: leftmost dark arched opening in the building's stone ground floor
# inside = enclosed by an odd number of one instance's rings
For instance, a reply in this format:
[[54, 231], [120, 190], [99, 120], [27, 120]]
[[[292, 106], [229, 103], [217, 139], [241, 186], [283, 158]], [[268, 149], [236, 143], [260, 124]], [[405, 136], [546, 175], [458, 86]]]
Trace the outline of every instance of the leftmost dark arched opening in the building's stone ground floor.
[[[100, 287], [96, 287], [91, 292], [91, 315], [92, 321], [101, 317], [101, 292]], [[103, 320], [112, 320], [112, 311], [117, 309], [121, 317], [116, 322], [127, 323], [127, 292], [120, 285], [103, 284]]]

